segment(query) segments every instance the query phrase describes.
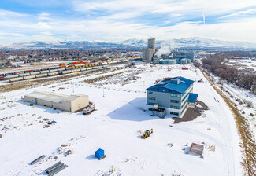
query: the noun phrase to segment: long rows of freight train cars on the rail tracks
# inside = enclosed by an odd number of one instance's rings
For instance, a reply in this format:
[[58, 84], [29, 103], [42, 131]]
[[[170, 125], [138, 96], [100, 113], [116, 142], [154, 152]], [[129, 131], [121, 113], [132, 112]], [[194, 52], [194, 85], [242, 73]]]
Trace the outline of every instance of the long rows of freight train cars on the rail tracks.
[[89, 62], [71, 62], [67, 65], [59, 64], [59, 67], [55, 68], [43, 68], [37, 70], [28, 70], [13, 72], [12, 75], [1, 75], [0, 80], [9, 79], [9, 82], [16, 82], [27, 79], [42, 78], [52, 75], [63, 75], [72, 72], [83, 72], [91, 69], [106, 68], [109, 64], [127, 62], [128, 59], [120, 59], [116, 61], [91, 61]]

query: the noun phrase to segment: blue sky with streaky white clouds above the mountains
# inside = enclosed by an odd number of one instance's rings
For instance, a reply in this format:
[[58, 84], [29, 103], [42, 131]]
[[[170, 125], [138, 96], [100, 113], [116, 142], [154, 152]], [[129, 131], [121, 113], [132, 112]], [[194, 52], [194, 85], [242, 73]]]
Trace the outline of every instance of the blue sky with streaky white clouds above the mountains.
[[[205, 20], [203, 20], [205, 19]], [[202, 37], [256, 42], [254, 0], [1, 0], [0, 43]]]

